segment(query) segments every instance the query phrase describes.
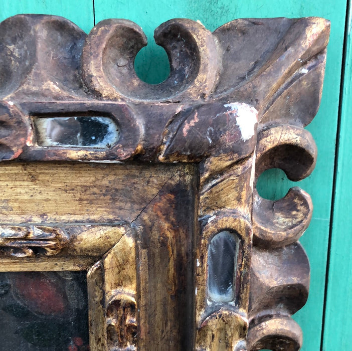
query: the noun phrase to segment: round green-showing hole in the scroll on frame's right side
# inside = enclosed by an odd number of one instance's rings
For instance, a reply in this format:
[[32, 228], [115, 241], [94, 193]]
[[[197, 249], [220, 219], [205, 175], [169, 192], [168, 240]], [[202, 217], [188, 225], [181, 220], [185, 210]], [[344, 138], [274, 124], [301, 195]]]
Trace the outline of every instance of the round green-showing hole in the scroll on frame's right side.
[[256, 188], [262, 198], [276, 201], [283, 198], [292, 186], [295, 186], [294, 182], [287, 179], [282, 169], [271, 168], [260, 174]]

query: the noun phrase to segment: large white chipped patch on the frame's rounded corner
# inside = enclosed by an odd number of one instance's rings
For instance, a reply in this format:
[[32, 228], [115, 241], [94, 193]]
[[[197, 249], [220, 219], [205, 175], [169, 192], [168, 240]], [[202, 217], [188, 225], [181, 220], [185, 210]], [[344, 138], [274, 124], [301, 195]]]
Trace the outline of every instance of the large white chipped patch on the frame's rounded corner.
[[225, 104], [224, 107], [236, 113], [236, 124], [240, 129], [241, 139], [243, 141], [250, 139], [255, 134], [258, 115], [257, 110], [243, 103]]

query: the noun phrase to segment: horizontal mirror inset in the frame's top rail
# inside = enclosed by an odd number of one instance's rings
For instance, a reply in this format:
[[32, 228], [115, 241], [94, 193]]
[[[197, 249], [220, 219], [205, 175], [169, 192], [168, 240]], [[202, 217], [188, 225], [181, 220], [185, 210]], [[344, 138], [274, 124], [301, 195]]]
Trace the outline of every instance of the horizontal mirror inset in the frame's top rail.
[[109, 117], [35, 117], [39, 146], [110, 148], [120, 136]]

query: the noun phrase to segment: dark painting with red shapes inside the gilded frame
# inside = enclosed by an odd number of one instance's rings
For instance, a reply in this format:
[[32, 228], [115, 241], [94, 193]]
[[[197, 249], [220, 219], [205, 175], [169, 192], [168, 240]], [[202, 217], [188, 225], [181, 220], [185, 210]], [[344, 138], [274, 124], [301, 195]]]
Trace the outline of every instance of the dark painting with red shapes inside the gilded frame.
[[0, 273], [0, 349], [89, 350], [86, 272]]

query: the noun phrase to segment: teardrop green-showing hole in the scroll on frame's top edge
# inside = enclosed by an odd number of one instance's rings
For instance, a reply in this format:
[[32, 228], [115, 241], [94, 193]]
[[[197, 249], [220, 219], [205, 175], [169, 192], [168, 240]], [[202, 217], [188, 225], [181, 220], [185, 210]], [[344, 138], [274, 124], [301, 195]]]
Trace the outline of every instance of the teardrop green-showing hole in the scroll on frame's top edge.
[[136, 55], [134, 70], [138, 78], [145, 83], [162, 83], [170, 74], [170, 65], [165, 50], [151, 40]]

